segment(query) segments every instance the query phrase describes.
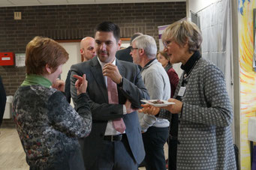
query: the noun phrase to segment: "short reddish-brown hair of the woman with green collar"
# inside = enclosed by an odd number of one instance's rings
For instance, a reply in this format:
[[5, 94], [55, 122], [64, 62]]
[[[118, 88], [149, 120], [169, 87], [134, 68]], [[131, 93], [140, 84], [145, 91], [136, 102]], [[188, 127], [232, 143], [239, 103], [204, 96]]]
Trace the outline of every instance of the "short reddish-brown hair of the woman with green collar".
[[48, 37], [34, 37], [26, 46], [26, 73], [43, 75], [49, 64], [53, 72], [60, 64], [68, 61], [68, 52], [55, 40]]

